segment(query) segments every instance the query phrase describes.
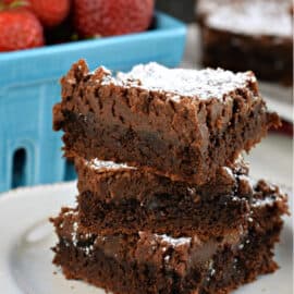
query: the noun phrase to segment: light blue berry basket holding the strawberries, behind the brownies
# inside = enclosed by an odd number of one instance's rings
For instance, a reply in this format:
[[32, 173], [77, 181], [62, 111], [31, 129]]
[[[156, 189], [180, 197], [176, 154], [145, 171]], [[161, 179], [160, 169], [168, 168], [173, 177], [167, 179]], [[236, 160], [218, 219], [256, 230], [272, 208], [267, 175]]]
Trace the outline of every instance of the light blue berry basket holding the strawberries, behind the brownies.
[[0, 53], [0, 192], [74, 177], [62, 159], [61, 134], [52, 132], [59, 78], [73, 62], [85, 58], [91, 69], [103, 64], [114, 71], [149, 61], [179, 64], [185, 25], [162, 13], [156, 23], [140, 34]]

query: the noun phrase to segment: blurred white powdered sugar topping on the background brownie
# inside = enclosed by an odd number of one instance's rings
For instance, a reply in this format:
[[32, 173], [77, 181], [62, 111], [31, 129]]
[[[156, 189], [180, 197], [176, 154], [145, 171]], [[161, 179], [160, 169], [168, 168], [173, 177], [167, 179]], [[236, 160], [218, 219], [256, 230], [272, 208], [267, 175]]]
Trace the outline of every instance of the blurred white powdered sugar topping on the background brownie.
[[290, 4], [287, 0], [224, 1], [213, 10], [207, 8], [207, 23], [238, 34], [292, 38]]

